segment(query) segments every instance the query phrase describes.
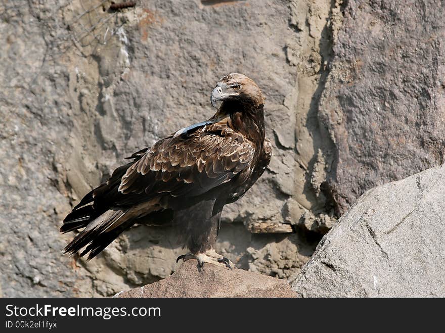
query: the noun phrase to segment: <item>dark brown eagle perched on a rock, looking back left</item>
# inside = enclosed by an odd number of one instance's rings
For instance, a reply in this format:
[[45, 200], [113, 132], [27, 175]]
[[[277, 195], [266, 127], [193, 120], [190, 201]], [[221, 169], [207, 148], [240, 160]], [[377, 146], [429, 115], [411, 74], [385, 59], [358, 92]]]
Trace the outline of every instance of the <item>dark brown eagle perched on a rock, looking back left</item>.
[[[91, 260], [135, 223], [180, 228], [198, 268], [233, 268], [215, 252], [222, 208], [240, 199], [269, 165], [264, 96], [243, 74], [222, 77], [210, 102], [216, 113], [182, 128], [126, 159], [111, 177], [72, 209], [60, 231], [82, 229], [64, 253]], [[80, 252], [81, 251], [81, 252]], [[79, 254], [80, 252], [80, 254]]]

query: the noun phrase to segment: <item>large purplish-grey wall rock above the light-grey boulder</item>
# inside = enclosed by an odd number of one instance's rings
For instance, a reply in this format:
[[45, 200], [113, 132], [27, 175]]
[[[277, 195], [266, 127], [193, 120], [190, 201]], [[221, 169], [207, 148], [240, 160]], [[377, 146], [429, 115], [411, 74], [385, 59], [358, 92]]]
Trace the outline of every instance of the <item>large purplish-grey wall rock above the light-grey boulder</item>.
[[440, 0], [344, 2], [318, 114], [338, 216], [368, 189], [445, 161], [444, 10]]

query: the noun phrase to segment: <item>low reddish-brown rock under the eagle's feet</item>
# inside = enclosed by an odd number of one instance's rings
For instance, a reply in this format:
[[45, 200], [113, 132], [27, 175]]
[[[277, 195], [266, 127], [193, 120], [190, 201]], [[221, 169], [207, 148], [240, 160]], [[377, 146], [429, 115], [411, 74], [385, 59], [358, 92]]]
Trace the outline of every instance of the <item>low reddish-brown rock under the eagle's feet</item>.
[[171, 276], [140, 288], [122, 291], [115, 297], [296, 297], [284, 280], [242, 269], [188, 260]]

